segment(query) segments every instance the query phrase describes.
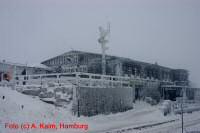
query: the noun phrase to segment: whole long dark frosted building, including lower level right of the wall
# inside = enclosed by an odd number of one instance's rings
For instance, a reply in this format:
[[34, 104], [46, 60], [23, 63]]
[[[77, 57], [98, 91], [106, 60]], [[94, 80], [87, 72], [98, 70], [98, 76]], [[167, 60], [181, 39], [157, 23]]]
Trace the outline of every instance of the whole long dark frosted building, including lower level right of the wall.
[[[47, 59], [44, 64], [57, 73], [85, 72], [102, 74], [102, 55], [98, 53], [72, 50]], [[142, 98], [148, 90], [162, 92], [163, 85], [173, 85], [173, 93], [179, 93], [181, 86], [188, 86], [189, 73], [185, 69], [173, 69], [130, 58], [106, 55], [106, 75], [133, 77], [135, 98]], [[136, 80], [137, 79], [137, 80]], [[166, 90], [166, 89], [165, 89]], [[171, 93], [170, 88], [165, 93]], [[164, 98], [164, 93], [161, 96]], [[167, 95], [166, 94], [166, 95]], [[177, 94], [180, 95], [180, 94]], [[174, 97], [169, 97], [174, 99]]]

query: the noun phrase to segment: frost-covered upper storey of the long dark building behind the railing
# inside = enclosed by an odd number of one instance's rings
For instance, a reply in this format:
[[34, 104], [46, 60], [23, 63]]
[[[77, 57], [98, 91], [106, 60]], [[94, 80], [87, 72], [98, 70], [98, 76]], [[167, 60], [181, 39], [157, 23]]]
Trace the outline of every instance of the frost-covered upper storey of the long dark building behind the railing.
[[[54, 72], [87, 72], [102, 73], [101, 54], [69, 51], [62, 55], [43, 61]], [[135, 76], [140, 78], [157, 79], [160, 81], [188, 82], [188, 71], [135, 61], [129, 58], [106, 56], [106, 74], [118, 76]]]

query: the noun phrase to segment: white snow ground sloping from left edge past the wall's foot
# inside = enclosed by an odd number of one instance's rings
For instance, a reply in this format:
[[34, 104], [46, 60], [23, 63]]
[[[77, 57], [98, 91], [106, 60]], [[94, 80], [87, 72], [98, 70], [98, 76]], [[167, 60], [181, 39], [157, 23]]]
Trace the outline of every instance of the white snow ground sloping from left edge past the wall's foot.
[[[5, 96], [5, 99], [2, 99]], [[24, 108], [21, 108], [24, 105]], [[68, 108], [55, 107], [39, 100], [37, 97], [21, 94], [16, 90], [7, 87], [0, 87], [0, 133], [43, 133], [43, 132], [115, 132], [117, 129], [125, 129], [128, 127], [137, 127], [140, 125], [164, 122], [180, 118], [180, 115], [170, 115], [164, 117], [158, 106], [150, 106], [144, 102], [136, 102], [134, 109], [123, 113], [110, 115], [97, 115], [93, 117], [80, 118], [73, 116]], [[188, 114], [191, 119], [196, 118], [199, 112]], [[200, 116], [199, 116], [200, 118]], [[82, 123], [88, 124], [88, 130], [84, 129], [8, 129], [5, 123], [56, 123], [64, 122], [67, 124]], [[168, 125], [168, 124], [166, 124]], [[164, 125], [163, 125], [164, 126]], [[162, 127], [162, 126], [160, 126]], [[198, 127], [198, 126], [197, 126]], [[152, 128], [153, 130], [153, 128]], [[179, 129], [177, 129], [179, 130]], [[147, 131], [148, 130], [144, 130]], [[138, 131], [131, 131], [138, 132]]]

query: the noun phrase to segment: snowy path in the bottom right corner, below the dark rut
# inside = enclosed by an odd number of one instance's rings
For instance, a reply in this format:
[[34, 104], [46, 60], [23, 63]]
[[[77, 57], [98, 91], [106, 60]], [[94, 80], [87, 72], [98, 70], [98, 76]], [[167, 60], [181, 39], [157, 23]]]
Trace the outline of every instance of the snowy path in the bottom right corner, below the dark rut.
[[[193, 112], [192, 114], [184, 114], [184, 133], [186, 131], [200, 132], [200, 112]], [[116, 129], [111, 133], [181, 133], [182, 123], [181, 116], [176, 116], [177, 119], [173, 122], [168, 122], [156, 126], [149, 126], [143, 129], [134, 129], [135, 126]], [[180, 118], [180, 119], [178, 119]], [[145, 125], [145, 124], [144, 124]], [[151, 125], [151, 124], [150, 124]]]

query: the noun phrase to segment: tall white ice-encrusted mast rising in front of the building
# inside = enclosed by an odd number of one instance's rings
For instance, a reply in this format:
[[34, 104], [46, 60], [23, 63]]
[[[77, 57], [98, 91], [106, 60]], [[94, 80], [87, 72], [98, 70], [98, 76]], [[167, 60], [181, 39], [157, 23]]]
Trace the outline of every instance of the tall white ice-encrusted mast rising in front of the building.
[[104, 29], [103, 27], [99, 27], [99, 39], [98, 42], [101, 44], [101, 50], [102, 50], [102, 74], [106, 74], [106, 50], [108, 50], [108, 47], [106, 46], [106, 43], [108, 43], [108, 35], [110, 34], [110, 23], [107, 24], [107, 29]]

